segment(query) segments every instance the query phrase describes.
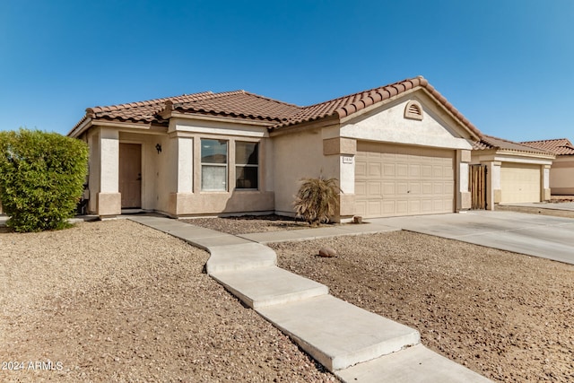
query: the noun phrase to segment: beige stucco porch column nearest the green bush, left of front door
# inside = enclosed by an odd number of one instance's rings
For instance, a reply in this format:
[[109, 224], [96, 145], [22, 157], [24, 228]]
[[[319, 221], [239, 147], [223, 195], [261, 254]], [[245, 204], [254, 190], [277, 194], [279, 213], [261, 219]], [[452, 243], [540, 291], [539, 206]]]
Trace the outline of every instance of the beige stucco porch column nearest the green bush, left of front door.
[[100, 129], [100, 192], [97, 196], [100, 218], [111, 218], [122, 213], [119, 194], [119, 132]]

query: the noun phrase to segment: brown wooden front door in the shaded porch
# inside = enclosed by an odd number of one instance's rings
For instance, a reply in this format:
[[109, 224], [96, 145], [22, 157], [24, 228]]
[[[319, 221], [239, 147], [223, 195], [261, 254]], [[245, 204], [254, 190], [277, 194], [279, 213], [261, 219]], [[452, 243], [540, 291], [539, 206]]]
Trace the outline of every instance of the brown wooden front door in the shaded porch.
[[119, 144], [119, 193], [122, 209], [142, 207], [142, 145]]

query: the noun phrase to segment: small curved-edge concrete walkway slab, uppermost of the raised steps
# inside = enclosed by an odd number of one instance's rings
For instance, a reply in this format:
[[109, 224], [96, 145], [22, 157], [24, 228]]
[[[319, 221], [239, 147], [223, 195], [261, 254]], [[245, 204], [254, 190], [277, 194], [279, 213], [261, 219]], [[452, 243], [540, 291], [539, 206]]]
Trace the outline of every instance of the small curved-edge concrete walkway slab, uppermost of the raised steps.
[[207, 260], [206, 269], [210, 275], [277, 264], [275, 252], [255, 242], [211, 246], [209, 252], [211, 257]]

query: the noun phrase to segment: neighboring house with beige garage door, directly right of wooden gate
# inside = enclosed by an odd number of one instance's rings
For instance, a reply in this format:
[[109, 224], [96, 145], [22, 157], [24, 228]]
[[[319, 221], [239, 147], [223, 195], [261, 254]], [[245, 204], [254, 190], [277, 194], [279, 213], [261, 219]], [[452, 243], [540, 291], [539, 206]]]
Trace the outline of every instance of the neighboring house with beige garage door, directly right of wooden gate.
[[550, 199], [554, 154], [491, 135], [474, 143], [471, 165], [486, 167], [486, 208]]

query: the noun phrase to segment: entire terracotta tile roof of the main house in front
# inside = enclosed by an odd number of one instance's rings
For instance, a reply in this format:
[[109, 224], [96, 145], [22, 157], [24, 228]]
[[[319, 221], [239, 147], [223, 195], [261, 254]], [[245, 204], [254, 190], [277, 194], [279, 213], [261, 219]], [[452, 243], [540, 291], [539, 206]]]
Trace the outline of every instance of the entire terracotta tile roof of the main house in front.
[[[271, 129], [293, 126], [322, 118], [345, 118], [361, 109], [388, 100], [405, 91], [421, 87], [431, 93], [439, 103], [462, 124], [480, 136], [480, 131], [471, 124], [439, 91], [436, 91], [422, 76], [392, 83], [390, 85], [361, 91], [335, 100], [328, 100], [309, 107], [299, 107], [279, 100], [269, 99], [247, 91], [226, 91], [213, 93], [184, 94], [163, 99], [131, 102], [109, 107], [86, 109], [86, 115], [74, 126], [70, 135], [89, 118], [165, 126], [171, 112], [215, 115], [230, 118], [268, 121]], [[77, 133], [77, 132], [76, 132]]]

